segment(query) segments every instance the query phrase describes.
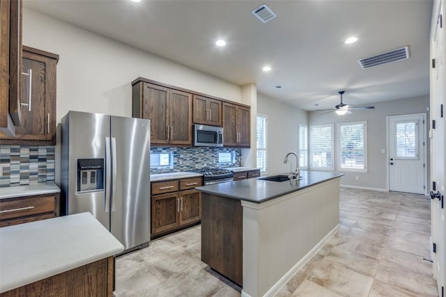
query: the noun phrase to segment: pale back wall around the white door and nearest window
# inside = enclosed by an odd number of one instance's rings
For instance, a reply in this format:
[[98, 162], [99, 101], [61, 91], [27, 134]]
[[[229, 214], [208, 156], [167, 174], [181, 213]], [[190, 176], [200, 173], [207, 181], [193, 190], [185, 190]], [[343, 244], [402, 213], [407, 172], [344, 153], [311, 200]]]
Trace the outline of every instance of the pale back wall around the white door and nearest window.
[[[320, 115], [321, 111], [312, 111], [308, 114], [308, 122], [309, 125], [321, 125], [366, 120], [368, 172], [344, 172], [345, 176], [341, 178], [341, 184], [383, 190], [387, 189], [387, 153], [383, 154], [381, 152], [383, 149], [387, 151], [386, 117], [410, 113], [427, 113], [426, 107], [429, 106], [429, 96], [392, 100], [370, 105], [375, 106], [375, 109], [353, 111], [351, 115], [344, 116], [336, 113]], [[427, 118], [426, 126], [429, 128], [429, 117]], [[429, 131], [429, 129], [426, 129], [426, 131]], [[334, 138], [337, 138], [337, 125], [334, 125]], [[429, 152], [429, 142], [426, 143], [426, 150]], [[336, 148], [334, 154], [337, 154]], [[429, 160], [425, 160], [425, 163], [429, 164]], [[337, 163], [334, 166], [336, 168]], [[355, 179], [356, 177], [359, 177], [358, 181]]]

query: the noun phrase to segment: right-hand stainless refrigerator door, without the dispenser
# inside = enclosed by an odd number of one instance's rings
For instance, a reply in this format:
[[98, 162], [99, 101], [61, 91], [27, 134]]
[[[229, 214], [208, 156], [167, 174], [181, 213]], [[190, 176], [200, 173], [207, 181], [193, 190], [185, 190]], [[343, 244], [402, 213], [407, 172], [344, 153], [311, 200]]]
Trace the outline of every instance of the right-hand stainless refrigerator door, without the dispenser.
[[125, 250], [150, 241], [150, 120], [111, 118], [112, 234]]

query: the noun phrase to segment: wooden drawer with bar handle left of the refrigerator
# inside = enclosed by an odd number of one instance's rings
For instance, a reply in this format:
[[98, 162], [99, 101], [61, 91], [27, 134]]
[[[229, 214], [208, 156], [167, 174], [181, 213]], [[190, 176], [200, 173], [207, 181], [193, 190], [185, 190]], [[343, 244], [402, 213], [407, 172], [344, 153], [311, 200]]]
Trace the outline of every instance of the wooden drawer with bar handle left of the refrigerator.
[[57, 214], [55, 195], [39, 195], [0, 200], [0, 220], [36, 216], [38, 214]]

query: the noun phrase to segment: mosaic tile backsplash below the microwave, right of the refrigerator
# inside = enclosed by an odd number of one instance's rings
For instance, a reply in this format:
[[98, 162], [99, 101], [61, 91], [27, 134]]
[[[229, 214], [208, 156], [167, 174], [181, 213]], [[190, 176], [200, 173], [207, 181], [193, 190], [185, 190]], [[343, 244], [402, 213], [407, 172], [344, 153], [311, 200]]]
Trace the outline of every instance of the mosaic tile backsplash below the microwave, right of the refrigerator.
[[[232, 163], [218, 163], [219, 152], [234, 154]], [[191, 171], [206, 167], [238, 167], [242, 162], [241, 149], [226, 147], [152, 147], [151, 153], [171, 153], [174, 157], [173, 168], [151, 168], [151, 173]]]

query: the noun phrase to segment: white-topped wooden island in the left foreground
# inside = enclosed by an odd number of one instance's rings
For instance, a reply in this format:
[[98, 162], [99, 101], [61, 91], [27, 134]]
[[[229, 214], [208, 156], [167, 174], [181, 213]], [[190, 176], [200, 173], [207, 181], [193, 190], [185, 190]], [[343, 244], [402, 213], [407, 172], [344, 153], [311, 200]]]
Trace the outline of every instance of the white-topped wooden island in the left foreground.
[[112, 296], [123, 245], [90, 213], [0, 228], [0, 296]]

